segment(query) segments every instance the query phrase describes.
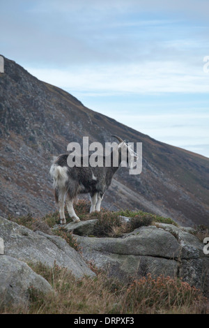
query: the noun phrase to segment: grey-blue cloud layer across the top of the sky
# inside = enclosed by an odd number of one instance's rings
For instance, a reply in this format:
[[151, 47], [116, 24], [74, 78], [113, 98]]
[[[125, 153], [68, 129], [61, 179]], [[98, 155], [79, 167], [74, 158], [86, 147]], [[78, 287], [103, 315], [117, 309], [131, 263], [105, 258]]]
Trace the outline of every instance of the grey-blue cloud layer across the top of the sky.
[[[200, 52], [207, 55], [207, 8], [207, 2], [191, 0], [8, 0], [1, 6], [1, 52], [23, 65], [51, 68], [176, 57], [194, 63]], [[196, 13], [192, 22], [184, 10]]]

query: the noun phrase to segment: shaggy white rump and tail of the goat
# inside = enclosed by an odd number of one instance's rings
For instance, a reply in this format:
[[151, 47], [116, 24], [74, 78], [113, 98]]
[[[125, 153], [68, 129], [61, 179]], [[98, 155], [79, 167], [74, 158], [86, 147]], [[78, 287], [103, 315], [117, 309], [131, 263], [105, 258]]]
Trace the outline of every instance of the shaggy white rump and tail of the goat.
[[53, 178], [54, 197], [55, 201], [59, 201], [59, 190], [66, 188], [66, 182], [68, 181], [68, 167], [56, 165], [53, 163], [50, 168], [50, 175]]

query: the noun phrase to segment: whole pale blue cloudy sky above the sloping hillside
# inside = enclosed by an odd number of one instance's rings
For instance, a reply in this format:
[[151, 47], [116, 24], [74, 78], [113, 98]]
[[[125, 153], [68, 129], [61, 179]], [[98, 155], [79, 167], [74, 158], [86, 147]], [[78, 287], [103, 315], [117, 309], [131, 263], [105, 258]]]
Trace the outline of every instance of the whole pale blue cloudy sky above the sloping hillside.
[[0, 54], [91, 110], [209, 157], [208, 0], [0, 0], [0, 12]]

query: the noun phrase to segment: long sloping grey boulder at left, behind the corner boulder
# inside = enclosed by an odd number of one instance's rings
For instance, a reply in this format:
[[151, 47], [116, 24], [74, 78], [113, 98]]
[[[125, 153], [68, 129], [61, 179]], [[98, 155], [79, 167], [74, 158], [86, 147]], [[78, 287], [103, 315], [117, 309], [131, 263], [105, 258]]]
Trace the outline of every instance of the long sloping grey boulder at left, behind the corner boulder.
[[76, 277], [95, 276], [82, 256], [61, 237], [33, 232], [0, 216], [0, 237], [4, 240], [4, 253], [24, 262], [42, 262], [49, 267], [54, 262], [66, 267]]

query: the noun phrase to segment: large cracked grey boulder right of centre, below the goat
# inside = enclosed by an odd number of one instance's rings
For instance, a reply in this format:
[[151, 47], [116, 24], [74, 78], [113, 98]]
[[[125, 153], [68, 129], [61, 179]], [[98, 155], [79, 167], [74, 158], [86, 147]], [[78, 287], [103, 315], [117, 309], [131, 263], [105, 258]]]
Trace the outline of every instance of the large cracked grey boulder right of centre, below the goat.
[[123, 281], [148, 272], [175, 276], [178, 271], [178, 241], [155, 226], [141, 227], [123, 238], [75, 237], [84, 259]]

